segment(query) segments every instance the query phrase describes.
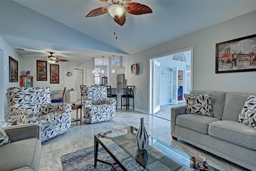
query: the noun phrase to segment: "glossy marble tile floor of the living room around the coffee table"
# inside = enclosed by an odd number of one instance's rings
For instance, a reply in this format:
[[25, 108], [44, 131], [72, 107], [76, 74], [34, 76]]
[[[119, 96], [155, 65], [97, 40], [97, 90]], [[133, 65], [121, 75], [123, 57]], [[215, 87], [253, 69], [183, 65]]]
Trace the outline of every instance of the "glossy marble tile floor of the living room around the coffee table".
[[[80, 111], [78, 111], [78, 115], [80, 115]], [[76, 110], [72, 110], [72, 117], [76, 117]], [[80, 121], [71, 123], [71, 127], [67, 132], [42, 143], [40, 170], [62, 171], [60, 161], [62, 155], [94, 145], [94, 134], [111, 130], [112, 125], [122, 124], [124, 126], [133, 125], [138, 127], [140, 117], [144, 117], [144, 125], [148, 134], [188, 153], [190, 156], [203, 155], [208, 159], [208, 164], [221, 171], [246, 171], [246, 169], [234, 163], [198, 149], [184, 141], [179, 139], [178, 141], [172, 140], [170, 121], [132, 109], [128, 109], [128, 111], [126, 109], [117, 109], [116, 117], [111, 121], [88, 124], [82, 117], [82, 125], [80, 125]], [[84, 170], [86, 171], [86, 168]]]

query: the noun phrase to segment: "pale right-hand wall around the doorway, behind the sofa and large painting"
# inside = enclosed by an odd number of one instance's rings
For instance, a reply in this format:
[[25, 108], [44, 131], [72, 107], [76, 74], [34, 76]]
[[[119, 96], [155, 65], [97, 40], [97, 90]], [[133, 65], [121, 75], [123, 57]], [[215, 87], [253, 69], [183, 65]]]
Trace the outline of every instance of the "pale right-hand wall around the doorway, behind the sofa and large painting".
[[217, 43], [256, 33], [256, 11], [210, 26], [181, 38], [128, 57], [128, 66], [138, 63], [138, 75], [128, 73], [128, 85], [135, 85], [134, 107], [148, 111], [148, 58], [193, 47], [193, 89], [256, 93], [256, 72], [215, 74]]

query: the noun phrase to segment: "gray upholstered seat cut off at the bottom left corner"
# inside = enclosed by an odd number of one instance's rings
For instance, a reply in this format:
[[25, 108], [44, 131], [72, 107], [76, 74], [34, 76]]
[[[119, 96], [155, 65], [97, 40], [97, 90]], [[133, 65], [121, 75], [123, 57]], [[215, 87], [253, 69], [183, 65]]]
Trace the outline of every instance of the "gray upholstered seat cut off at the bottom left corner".
[[11, 142], [0, 146], [0, 171], [40, 170], [40, 125], [28, 123], [3, 129]]

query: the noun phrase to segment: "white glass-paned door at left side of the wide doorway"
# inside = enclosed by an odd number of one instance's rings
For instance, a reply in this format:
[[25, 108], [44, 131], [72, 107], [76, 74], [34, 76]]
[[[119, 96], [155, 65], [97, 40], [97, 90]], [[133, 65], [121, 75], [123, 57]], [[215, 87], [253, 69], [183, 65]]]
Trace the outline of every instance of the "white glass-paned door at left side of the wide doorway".
[[153, 60], [153, 114], [160, 110], [160, 63]]

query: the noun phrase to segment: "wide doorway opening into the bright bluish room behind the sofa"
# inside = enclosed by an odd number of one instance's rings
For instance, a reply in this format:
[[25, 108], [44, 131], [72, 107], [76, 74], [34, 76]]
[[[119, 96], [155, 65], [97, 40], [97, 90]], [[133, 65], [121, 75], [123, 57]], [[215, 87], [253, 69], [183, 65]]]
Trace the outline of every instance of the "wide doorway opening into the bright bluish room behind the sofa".
[[149, 114], [170, 120], [173, 106], [185, 105], [184, 93], [192, 90], [193, 48], [149, 59]]

